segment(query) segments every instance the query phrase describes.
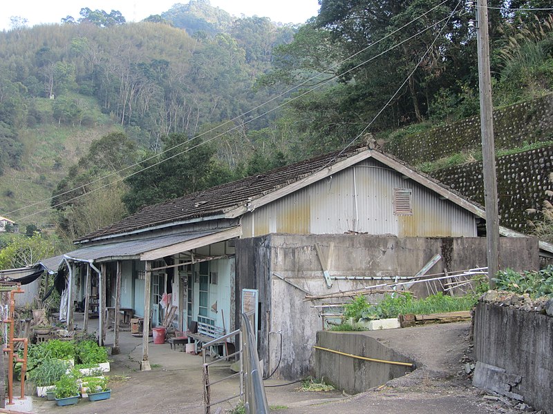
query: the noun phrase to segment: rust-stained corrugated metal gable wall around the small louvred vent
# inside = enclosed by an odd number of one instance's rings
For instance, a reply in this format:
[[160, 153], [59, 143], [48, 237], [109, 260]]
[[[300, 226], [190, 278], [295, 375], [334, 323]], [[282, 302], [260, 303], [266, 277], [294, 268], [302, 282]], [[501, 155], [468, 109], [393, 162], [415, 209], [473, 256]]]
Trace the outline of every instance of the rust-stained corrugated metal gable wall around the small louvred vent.
[[[354, 181], [355, 179], [355, 181]], [[394, 188], [413, 191], [413, 215], [394, 215]], [[247, 214], [243, 237], [268, 233], [476, 236], [474, 215], [367, 159]]]

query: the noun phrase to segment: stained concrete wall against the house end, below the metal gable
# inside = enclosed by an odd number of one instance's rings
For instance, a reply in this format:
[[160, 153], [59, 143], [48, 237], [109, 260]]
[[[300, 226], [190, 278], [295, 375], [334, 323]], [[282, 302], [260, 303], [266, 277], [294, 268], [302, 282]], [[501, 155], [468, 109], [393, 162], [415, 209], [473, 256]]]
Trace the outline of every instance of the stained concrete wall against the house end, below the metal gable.
[[[536, 239], [502, 237], [500, 242], [504, 267], [538, 268]], [[281, 359], [275, 376], [286, 379], [297, 379], [312, 372], [312, 346], [317, 331], [323, 328], [319, 311], [311, 307], [321, 302], [305, 301], [306, 292], [337, 293], [380, 282], [334, 280], [332, 287], [327, 288], [315, 244], [319, 244], [325, 255], [333, 245], [329, 259], [331, 276], [412, 276], [436, 253], [444, 259], [430, 273], [440, 273], [444, 267], [454, 271], [486, 265], [486, 240], [478, 237], [268, 235], [237, 240], [236, 298], [243, 288], [259, 289], [259, 355], [265, 361], [265, 372], [272, 372]], [[418, 296], [427, 293], [422, 284], [412, 290]], [[344, 299], [335, 302], [344, 302]], [[279, 335], [270, 333], [275, 331], [282, 333], [282, 353]]]

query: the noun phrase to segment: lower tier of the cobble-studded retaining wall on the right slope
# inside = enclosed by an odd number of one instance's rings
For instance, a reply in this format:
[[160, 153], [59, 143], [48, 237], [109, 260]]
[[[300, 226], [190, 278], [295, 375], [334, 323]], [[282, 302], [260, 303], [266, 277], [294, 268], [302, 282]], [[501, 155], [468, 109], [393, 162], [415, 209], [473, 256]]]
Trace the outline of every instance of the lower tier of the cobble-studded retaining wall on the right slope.
[[[553, 146], [505, 155], [496, 160], [500, 224], [514, 230], [528, 232], [527, 208], [541, 209], [541, 203], [550, 199], [545, 190], [553, 190], [548, 177], [553, 172]], [[443, 184], [457, 190], [472, 201], [484, 204], [482, 163], [443, 168], [431, 174]]]

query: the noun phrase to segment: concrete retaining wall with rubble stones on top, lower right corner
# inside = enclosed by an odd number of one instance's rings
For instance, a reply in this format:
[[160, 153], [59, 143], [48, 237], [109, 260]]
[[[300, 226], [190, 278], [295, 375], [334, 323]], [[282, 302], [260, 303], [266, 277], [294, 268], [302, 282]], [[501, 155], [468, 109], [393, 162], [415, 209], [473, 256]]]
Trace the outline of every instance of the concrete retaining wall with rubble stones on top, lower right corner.
[[530, 304], [528, 297], [502, 293], [487, 297], [474, 314], [473, 383], [553, 413], [553, 317], [542, 313], [545, 301]]

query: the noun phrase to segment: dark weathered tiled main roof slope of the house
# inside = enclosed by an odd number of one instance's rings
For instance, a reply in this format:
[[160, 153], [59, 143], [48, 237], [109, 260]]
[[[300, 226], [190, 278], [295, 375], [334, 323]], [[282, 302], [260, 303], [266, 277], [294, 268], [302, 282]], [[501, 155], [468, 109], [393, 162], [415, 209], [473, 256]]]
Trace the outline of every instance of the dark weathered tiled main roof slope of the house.
[[276, 168], [260, 175], [253, 175], [238, 181], [221, 184], [221, 186], [198, 191], [198, 193], [147, 206], [138, 213], [80, 237], [75, 242], [129, 233], [178, 221], [220, 215], [233, 208], [245, 206], [253, 199], [263, 197], [263, 195], [272, 193], [283, 186], [288, 186], [295, 181], [312, 175], [321, 168], [332, 166], [366, 149], [366, 147], [355, 147], [348, 148], [344, 152], [330, 152], [296, 164]]

